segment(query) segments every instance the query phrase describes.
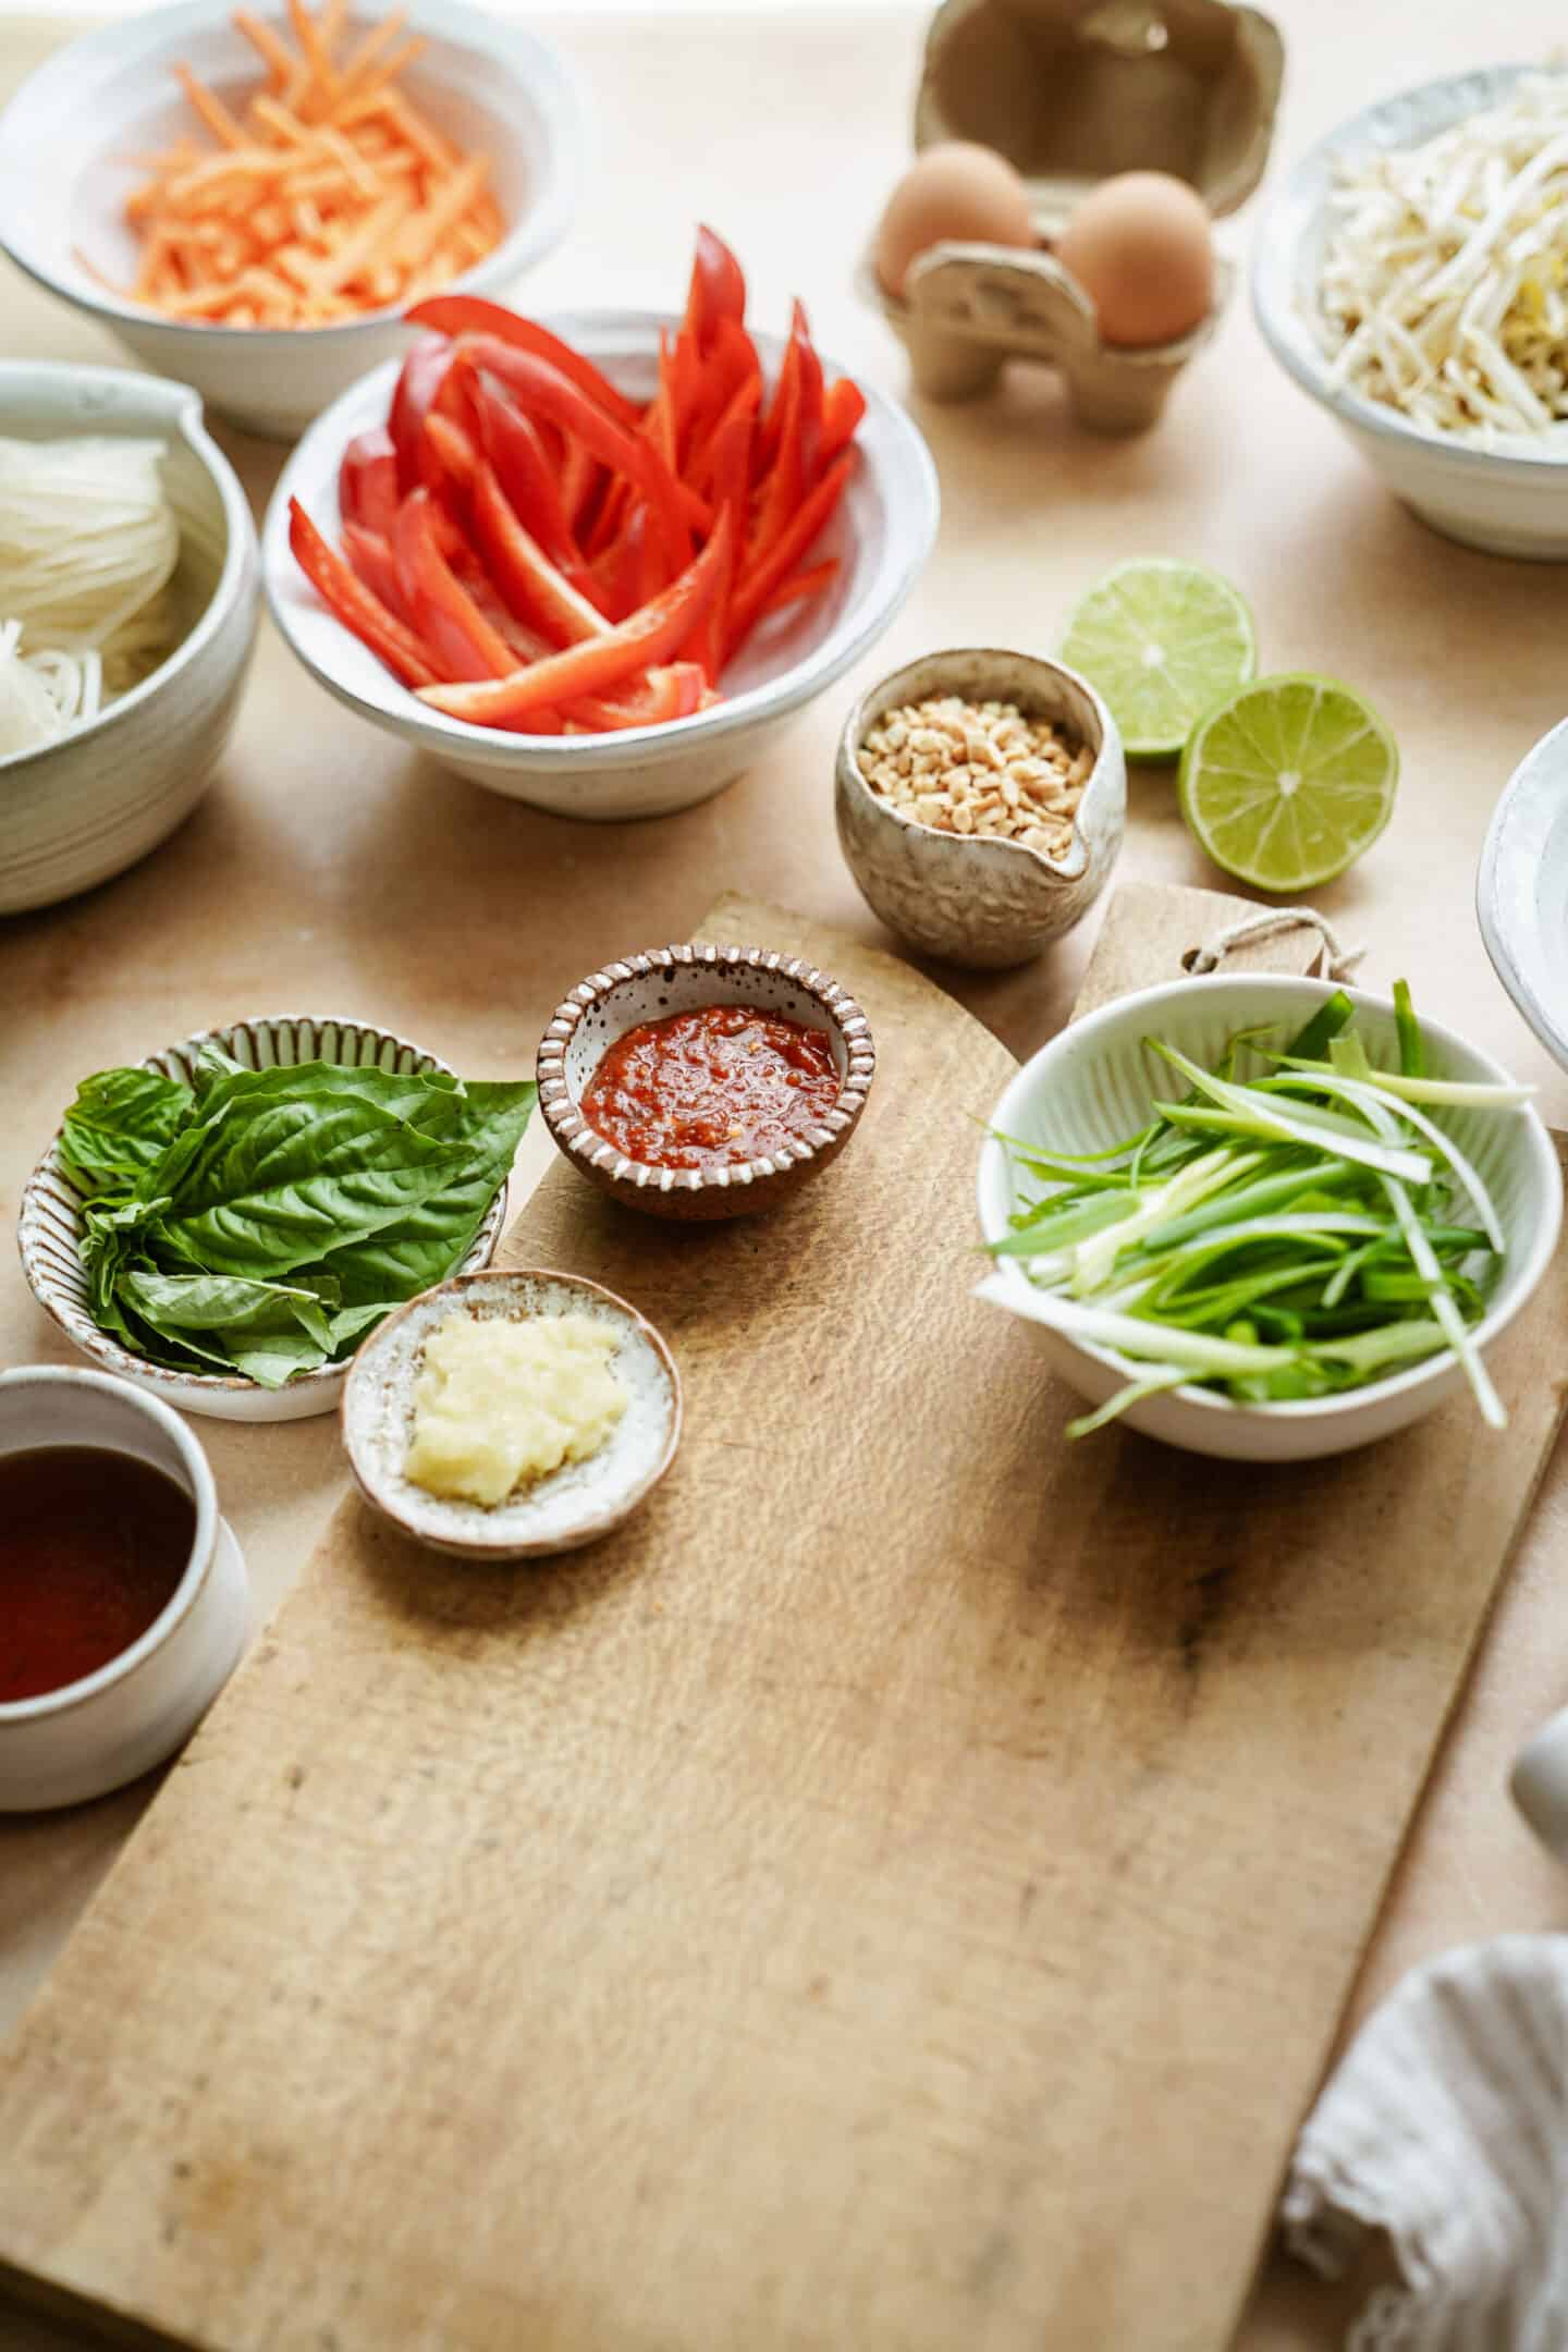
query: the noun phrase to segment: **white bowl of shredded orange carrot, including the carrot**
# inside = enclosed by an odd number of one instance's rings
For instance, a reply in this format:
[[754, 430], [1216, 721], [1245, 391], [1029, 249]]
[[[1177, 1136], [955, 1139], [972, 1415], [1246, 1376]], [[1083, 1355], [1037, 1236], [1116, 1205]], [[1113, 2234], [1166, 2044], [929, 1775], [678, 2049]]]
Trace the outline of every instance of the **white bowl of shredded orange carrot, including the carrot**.
[[294, 437], [567, 230], [574, 85], [461, 0], [160, 7], [71, 42], [0, 115], [0, 247], [139, 360]]

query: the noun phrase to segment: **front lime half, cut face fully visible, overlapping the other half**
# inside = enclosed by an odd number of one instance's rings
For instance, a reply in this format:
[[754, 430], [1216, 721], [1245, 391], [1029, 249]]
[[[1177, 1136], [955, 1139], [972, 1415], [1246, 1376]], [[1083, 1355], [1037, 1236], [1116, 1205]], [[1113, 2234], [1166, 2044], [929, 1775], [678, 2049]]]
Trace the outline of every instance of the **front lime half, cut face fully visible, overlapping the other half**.
[[1389, 821], [1399, 750], [1333, 677], [1258, 677], [1187, 739], [1180, 800], [1215, 866], [1255, 889], [1342, 875]]

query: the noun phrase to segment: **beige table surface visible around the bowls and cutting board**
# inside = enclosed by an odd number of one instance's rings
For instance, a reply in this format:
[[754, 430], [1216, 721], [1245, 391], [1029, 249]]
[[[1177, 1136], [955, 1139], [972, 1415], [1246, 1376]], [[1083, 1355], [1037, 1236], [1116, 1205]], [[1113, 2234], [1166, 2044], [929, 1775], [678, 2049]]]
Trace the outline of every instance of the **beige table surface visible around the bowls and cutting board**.
[[[1486, 16], [1429, 0], [1418, 45], [1401, 31], [1408, 12], [1392, 5], [1279, 0], [1276, 14], [1293, 45], [1276, 162], [1352, 103], [1493, 56], [1542, 54], [1556, 31], [1547, 0], [1493, 0]], [[780, 322], [799, 289], [823, 346], [900, 390], [903, 358], [858, 306], [851, 270], [907, 153], [919, 26], [917, 14], [839, 9], [545, 26], [581, 68], [597, 153], [581, 221], [531, 280], [531, 303], [675, 306], [691, 223], [708, 216], [748, 266], [759, 322]], [[59, 31], [0, 21], [0, 89]], [[1253, 212], [1232, 230], [1239, 242]], [[115, 355], [5, 263], [0, 353]], [[1425, 1007], [1537, 1077], [1549, 1117], [1568, 1122], [1568, 1080], [1497, 988], [1472, 915], [1497, 790], [1568, 703], [1568, 574], [1469, 555], [1406, 517], [1274, 372], [1244, 301], [1143, 440], [1077, 433], [1051, 379], [1030, 372], [1013, 372], [983, 407], [917, 414], [943, 477], [940, 543], [863, 677], [945, 642], [1048, 647], [1067, 602], [1121, 555], [1218, 564], [1253, 602], [1267, 666], [1359, 682], [1399, 736], [1394, 823], [1321, 894], [1347, 934], [1371, 941], [1363, 976], [1387, 985], [1406, 971]], [[280, 454], [223, 428], [219, 437], [261, 513]], [[263, 628], [237, 736], [190, 823], [87, 898], [0, 922], [0, 1223], [12, 1223], [78, 1075], [214, 1021], [360, 1011], [470, 1075], [524, 1075], [562, 988], [609, 955], [679, 938], [722, 887], [877, 936], [832, 835], [830, 760], [851, 684], [710, 807], [595, 828], [536, 816], [404, 755], [310, 684]], [[1161, 774], [1133, 779], [1121, 873], [1218, 880]], [[1063, 1021], [1086, 948], [1084, 934], [1020, 974], [947, 978], [1027, 1054]], [[524, 1164], [538, 1167], [529, 1150]], [[0, 1251], [0, 1362], [47, 1359], [68, 1350]], [[202, 1437], [266, 1613], [343, 1489], [334, 1423], [205, 1423]], [[1559, 1454], [1352, 2023], [1427, 1952], [1500, 1929], [1568, 1926], [1568, 1877], [1533, 1849], [1502, 1790], [1519, 1738], [1568, 1698], [1568, 1599], [1556, 1590], [1566, 1529]], [[148, 1795], [141, 1785], [71, 1816], [0, 1825], [0, 2030]], [[1291, 1835], [1288, 1820], [1279, 1835]], [[1274, 2263], [1239, 2352], [1338, 2343], [1340, 2312], [1342, 2298]], [[68, 2340], [0, 2317], [5, 2352]]]

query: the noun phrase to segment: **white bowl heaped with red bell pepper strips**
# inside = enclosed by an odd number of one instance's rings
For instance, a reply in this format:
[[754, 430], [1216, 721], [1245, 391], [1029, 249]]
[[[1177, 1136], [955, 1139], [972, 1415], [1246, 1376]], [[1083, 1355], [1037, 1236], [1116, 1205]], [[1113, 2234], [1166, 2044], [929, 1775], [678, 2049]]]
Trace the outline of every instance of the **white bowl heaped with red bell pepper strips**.
[[743, 310], [708, 233], [682, 318], [421, 303], [435, 332], [313, 426], [266, 520], [306, 668], [562, 816], [722, 790], [886, 630], [938, 515], [910, 419], [799, 303], [783, 341]]

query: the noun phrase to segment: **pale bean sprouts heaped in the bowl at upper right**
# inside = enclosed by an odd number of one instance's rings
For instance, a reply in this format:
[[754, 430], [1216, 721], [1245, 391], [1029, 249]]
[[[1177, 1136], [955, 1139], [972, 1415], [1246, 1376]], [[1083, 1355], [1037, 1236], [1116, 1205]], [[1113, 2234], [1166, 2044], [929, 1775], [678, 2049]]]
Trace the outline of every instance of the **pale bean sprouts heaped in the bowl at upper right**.
[[1568, 73], [1347, 162], [1314, 327], [1331, 381], [1481, 445], [1568, 421]]

